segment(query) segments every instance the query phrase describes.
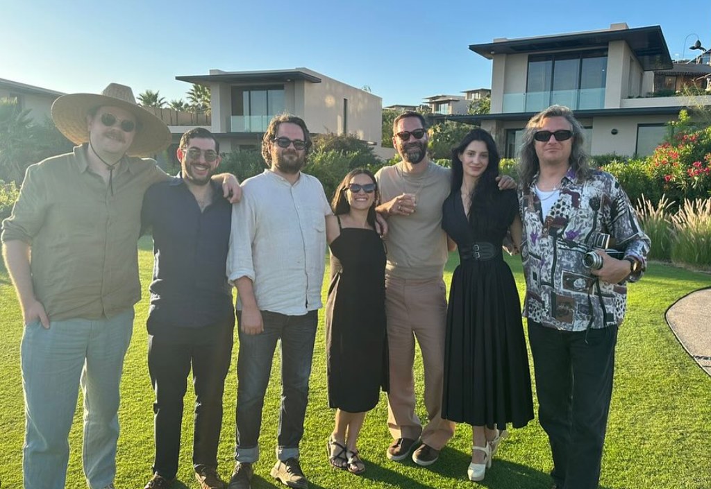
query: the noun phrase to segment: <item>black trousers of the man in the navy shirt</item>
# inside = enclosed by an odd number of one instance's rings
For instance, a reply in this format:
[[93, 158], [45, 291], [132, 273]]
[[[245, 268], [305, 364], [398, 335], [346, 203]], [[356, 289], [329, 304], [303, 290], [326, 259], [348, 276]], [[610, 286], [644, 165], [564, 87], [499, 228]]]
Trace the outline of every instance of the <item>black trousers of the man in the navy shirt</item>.
[[223, 418], [223, 391], [232, 358], [232, 322], [210, 328], [181, 331], [180, 335], [149, 335], [148, 369], [156, 402], [156, 458], [153, 471], [165, 478], [178, 473], [183, 397], [187, 378], [193, 369], [195, 424], [193, 428], [193, 466], [217, 467], [218, 444]]

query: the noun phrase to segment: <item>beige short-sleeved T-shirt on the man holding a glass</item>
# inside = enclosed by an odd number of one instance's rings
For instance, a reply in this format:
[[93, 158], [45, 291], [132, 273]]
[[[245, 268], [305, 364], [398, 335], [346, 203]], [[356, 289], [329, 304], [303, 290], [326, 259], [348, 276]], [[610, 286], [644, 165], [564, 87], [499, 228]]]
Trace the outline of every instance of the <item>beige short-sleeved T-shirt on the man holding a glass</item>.
[[442, 230], [442, 204], [449, 195], [451, 173], [432, 161], [427, 165], [427, 170], [417, 175], [404, 173], [402, 161], [375, 173], [382, 202], [402, 193], [414, 193], [417, 199], [412, 215], [387, 218], [387, 276], [437, 279], [444, 273], [449, 254]]

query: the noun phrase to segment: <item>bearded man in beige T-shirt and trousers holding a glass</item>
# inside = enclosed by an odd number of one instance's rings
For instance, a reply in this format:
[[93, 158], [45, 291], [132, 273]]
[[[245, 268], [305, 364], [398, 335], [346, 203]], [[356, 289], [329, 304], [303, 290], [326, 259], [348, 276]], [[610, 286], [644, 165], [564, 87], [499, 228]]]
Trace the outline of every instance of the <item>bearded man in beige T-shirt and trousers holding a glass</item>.
[[[447, 288], [444, 264], [449, 248], [442, 230], [442, 203], [451, 190], [451, 173], [427, 157], [427, 124], [422, 114], [404, 112], [392, 124], [392, 145], [402, 161], [375, 173], [380, 189], [378, 213], [387, 217], [385, 312], [390, 349], [387, 424], [394, 441], [387, 458], [429, 466], [454, 435], [454, 423], [442, 419], [444, 333]], [[515, 188], [499, 178], [500, 188]], [[415, 338], [422, 351], [424, 405], [429, 422], [415, 414]]]

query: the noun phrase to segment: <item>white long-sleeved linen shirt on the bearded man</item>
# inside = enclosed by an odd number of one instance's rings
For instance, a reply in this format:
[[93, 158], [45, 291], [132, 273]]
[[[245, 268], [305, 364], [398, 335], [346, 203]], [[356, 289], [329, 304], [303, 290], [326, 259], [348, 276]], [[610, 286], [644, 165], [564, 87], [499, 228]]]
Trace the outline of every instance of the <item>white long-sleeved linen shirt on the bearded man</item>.
[[[247, 276], [260, 311], [303, 316], [321, 308], [326, 255], [324, 187], [301, 173], [292, 185], [271, 170], [242, 183], [232, 205], [227, 257], [230, 283]], [[242, 303], [237, 296], [237, 309]]]

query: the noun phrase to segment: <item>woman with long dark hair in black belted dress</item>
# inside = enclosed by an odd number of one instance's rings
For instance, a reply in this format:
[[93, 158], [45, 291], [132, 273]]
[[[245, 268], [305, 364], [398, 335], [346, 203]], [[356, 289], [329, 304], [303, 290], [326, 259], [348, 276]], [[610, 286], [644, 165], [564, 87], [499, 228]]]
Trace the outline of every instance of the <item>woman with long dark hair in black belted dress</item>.
[[471, 480], [483, 479], [506, 424], [533, 419], [520, 301], [501, 254], [508, 230], [520, 244], [521, 220], [515, 190], [498, 189], [498, 163], [491, 135], [469, 132], [452, 150], [442, 206], [442, 227], [460, 257], [449, 290], [442, 417], [473, 427]]

